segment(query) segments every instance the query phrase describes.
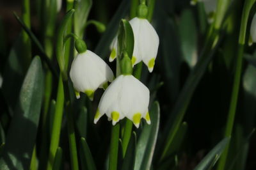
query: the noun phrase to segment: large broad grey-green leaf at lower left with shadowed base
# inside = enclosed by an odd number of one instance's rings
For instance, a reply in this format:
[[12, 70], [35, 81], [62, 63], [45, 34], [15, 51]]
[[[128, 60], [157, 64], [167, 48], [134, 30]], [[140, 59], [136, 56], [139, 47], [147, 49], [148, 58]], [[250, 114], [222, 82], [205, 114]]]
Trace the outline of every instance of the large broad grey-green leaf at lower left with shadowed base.
[[0, 169], [29, 169], [43, 95], [43, 71], [36, 56], [20, 89], [19, 102], [8, 131]]

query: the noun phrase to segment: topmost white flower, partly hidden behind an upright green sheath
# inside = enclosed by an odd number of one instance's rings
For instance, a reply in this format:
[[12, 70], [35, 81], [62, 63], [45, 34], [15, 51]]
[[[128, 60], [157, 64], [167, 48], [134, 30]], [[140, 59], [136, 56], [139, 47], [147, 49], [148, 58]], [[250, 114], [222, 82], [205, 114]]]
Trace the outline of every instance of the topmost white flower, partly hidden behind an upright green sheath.
[[[138, 17], [129, 21], [134, 34], [134, 49], [132, 54], [132, 66], [140, 63], [142, 60], [148, 66], [149, 72], [152, 72], [157, 55], [159, 45], [159, 37], [147, 19]], [[111, 54], [109, 61], [116, 58], [117, 52], [117, 36], [110, 45]]]

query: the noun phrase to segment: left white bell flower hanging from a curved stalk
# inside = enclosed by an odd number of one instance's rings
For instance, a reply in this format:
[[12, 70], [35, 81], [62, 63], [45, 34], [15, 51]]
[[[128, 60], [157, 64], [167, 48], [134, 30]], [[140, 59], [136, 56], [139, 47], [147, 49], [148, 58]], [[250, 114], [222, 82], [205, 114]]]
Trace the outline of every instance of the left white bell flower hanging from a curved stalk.
[[111, 68], [90, 50], [77, 54], [70, 68], [70, 79], [77, 98], [80, 98], [79, 92], [83, 92], [92, 100], [94, 91], [103, 88], [113, 78]]

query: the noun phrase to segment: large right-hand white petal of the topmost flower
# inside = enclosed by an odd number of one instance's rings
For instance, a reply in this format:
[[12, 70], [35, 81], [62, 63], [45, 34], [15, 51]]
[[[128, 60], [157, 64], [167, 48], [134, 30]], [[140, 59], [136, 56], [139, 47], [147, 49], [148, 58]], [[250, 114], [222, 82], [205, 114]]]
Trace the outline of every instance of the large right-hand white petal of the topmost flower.
[[159, 46], [159, 37], [152, 25], [147, 19], [140, 19], [140, 34], [138, 35], [139, 55], [143, 63], [148, 66], [148, 70], [152, 72], [154, 61], [157, 56]]

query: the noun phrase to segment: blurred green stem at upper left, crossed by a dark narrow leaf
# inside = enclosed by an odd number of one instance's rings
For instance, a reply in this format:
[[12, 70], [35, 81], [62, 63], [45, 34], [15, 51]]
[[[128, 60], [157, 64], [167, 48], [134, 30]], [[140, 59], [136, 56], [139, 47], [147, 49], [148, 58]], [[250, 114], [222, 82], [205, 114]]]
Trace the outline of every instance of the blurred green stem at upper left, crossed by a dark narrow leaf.
[[[22, 4], [22, 20], [24, 24], [30, 28], [30, 3], [29, 0], [23, 0]], [[31, 42], [26, 31], [22, 31], [22, 61], [24, 61], [25, 70], [28, 68], [31, 61]]]

